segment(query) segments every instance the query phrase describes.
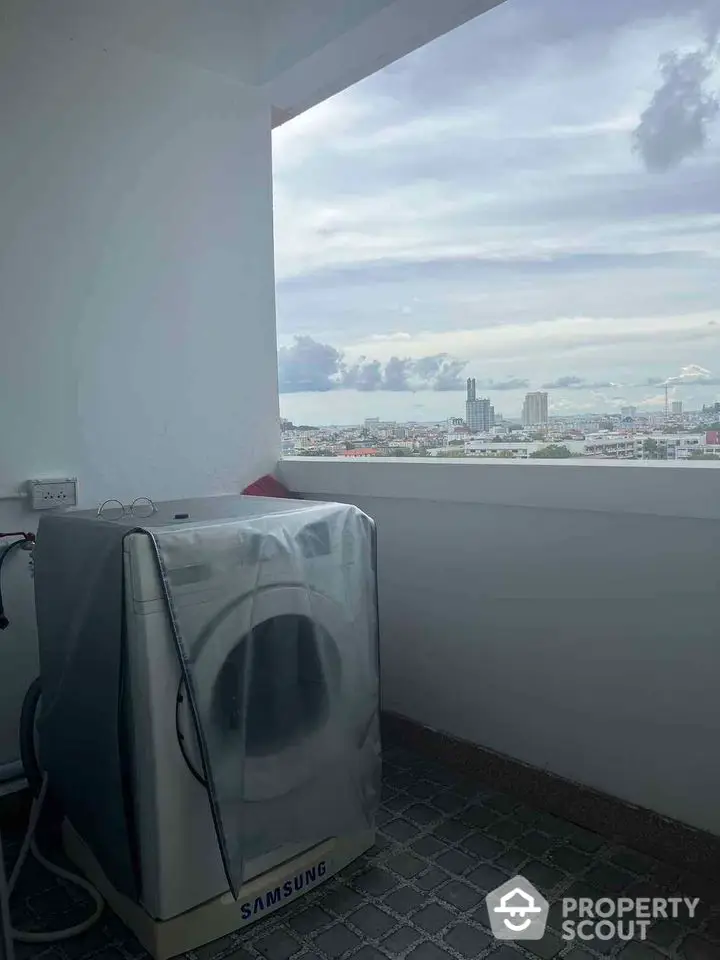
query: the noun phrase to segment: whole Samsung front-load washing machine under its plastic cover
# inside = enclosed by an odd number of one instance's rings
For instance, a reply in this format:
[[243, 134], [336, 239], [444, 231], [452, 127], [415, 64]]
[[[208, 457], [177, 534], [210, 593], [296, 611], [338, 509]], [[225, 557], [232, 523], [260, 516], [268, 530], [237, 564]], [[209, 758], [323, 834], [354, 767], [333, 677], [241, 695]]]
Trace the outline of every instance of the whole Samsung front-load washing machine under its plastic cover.
[[355, 507], [255, 497], [41, 519], [41, 763], [69, 854], [155, 956], [372, 845], [374, 544]]

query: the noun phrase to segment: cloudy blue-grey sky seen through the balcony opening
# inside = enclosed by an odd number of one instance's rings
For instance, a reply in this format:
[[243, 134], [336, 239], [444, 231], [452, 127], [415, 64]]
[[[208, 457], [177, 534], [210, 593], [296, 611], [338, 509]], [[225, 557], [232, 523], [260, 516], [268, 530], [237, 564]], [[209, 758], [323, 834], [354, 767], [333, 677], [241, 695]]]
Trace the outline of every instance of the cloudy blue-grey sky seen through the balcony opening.
[[273, 138], [283, 416], [720, 400], [720, 0], [505, 0]]

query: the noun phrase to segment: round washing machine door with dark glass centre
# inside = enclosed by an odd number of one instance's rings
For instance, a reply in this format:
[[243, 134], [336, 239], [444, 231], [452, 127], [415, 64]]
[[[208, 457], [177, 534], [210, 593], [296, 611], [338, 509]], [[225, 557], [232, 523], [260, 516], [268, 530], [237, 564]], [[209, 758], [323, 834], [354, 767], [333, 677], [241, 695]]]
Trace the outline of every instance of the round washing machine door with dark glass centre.
[[[190, 670], [208, 762], [225, 800], [284, 796], [342, 756], [347, 632], [337, 605], [301, 587], [240, 598], [206, 625]], [[201, 775], [184, 684], [178, 734]]]

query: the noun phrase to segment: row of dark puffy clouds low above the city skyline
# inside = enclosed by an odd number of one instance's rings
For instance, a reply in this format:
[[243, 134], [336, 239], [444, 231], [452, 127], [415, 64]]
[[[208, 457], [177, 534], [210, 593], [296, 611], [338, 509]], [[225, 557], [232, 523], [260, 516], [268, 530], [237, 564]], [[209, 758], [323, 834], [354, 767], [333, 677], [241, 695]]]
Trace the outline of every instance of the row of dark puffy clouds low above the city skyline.
[[[375, 390], [412, 391], [464, 390], [466, 360], [446, 353], [410, 359], [390, 357], [380, 360], [361, 356], [346, 364], [341, 351], [312, 337], [296, 336], [292, 346], [278, 351], [281, 393], [324, 393], [344, 388], [369, 393]], [[512, 384], [527, 384], [526, 380]], [[494, 389], [516, 389], [513, 385], [495, 385]]]

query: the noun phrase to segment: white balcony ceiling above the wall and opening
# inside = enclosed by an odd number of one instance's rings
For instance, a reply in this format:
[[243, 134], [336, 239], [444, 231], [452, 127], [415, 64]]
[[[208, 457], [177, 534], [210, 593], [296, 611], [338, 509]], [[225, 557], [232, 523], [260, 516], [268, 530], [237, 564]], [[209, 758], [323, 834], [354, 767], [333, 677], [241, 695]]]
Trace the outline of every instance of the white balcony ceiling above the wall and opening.
[[5, 24], [258, 87], [275, 125], [502, 0], [3, 0]]

